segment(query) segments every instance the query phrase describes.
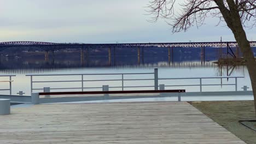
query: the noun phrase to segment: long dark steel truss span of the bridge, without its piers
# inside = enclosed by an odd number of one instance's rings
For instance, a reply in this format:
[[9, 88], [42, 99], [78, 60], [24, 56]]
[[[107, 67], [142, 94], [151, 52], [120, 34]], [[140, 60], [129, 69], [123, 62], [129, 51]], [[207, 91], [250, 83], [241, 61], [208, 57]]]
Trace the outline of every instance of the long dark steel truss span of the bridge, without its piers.
[[[250, 45], [256, 46], [256, 41], [251, 41]], [[129, 47], [237, 47], [235, 41], [222, 42], [193, 42], [193, 43], [117, 43], [117, 44], [81, 44], [81, 43], [46, 43], [37, 41], [9, 41], [0, 43], [0, 48], [7, 47], [51, 47], [52, 49], [77, 49], [77, 48], [129, 48]], [[52, 50], [51, 49], [51, 50]]]

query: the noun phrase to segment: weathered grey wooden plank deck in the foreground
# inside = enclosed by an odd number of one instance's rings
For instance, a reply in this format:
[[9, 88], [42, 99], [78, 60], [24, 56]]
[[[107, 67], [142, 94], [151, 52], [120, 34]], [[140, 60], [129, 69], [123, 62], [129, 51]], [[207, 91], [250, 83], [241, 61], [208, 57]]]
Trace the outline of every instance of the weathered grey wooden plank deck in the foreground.
[[245, 143], [186, 102], [45, 104], [0, 116], [0, 143]]

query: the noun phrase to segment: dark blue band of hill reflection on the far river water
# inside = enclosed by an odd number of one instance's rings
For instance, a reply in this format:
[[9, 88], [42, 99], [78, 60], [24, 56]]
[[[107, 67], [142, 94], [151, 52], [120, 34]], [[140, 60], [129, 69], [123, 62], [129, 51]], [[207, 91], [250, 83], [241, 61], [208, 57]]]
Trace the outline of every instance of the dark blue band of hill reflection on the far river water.
[[[214, 59], [212, 59], [214, 61]], [[120, 66], [141, 66], [151, 67], [214, 67], [211, 62], [200, 62], [200, 57], [179, 56], [173, 57], [172, 61], [168, 56], [94, 56], [85, 57], [1, 57], [0, 69], [62, 69], [62, 68], [86, 68], [86, 67], [120, 67]]]

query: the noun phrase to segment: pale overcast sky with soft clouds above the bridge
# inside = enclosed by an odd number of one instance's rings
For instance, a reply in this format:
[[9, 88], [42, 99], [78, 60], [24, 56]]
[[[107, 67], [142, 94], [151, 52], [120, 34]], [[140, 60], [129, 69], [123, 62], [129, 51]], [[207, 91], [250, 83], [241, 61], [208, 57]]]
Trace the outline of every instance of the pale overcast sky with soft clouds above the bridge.
[[[224, 23], [172, 34], [164, 21], [150, 23], [149, 0], [0, 0], [0, 41], [55, 43], [154, 43], [234, 40]], [[247, 29], [256, 41], [256, 28]]]

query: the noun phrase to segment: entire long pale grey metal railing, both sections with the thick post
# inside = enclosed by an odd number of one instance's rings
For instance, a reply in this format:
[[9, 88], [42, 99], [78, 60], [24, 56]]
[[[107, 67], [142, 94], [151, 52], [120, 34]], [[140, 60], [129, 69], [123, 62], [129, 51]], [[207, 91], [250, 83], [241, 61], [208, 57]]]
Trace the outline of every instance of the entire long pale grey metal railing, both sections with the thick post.
[[[101, 79], [101, 80], [85, 80], [84, 76], [94, 76], [94, 75], [103, 75], [103, 76], [108, 76], [108, 75], [116, 75], [116, 76], [121, 76], [121, 79]], [[147, 79], [125, 79], [125, 75], [152, 75], [152, 77], [149, 77]], [[85, 89], [99, 89], [102, 88], [102, 85], [100, 87], [85, 87], [84, 82], [104, 82], [104, 81], [120, 81], [121, 85], [120, 86], [112, 86], [109, 88], [121, 88], [122, 91], [124, 91], [124, 88], [145, 88], [145, 87], [152, 87], [155, 90], [159, 89], [159, 81], [165, 81], [165, 80], [191, 80], [191, 79], [197, 79], [199, 80], [198, 83], [196, 84], [191, 84], [191, 85], [161, 85], [161, 87], [190, 87], [190, 86], [199, 86], [200, 92], [202, 92], [202, 86], [235, 86], [235, 91], [237, 91], [237, 79], [238, 78], [244, 78], [242, 76], [215, 76], [215, 77], [175, 77], [175, 78], [159, 78], [158, 75], [158, 69], [154, 70], [154, 73], [113, 73], [113, 74], [53, 74], [53, 75], [26, 75], [30, 76], [31, 79], [31, 93], [33, 90], [43, 90], [44, 88], [34, 88], [33, 84], [34, 83], [57, 83], [57, 82], [78, 82], [80, 87], [67, 87], [67, 88], [61, 88], [61, 87], [54, 87], [50, 88], [53, 90], [61, 90], [61, 89], [80, 89], [82, 92], [84, 92]], [[80, 76], [79, 80], [42, 80], [42, 81], [35, 81], [33, 78], [36, 76]], [[204, 84], [202, 83], [203, 79], [235, 79], [235, 83], [214, 83], [214, 84]], [[154, 85], [137, 85], [137, 86], [125, 86], [126, 81], [153, 81]], [[165, 83], [165, 82], [163, 82]], [[161, 90], [164, 90], [161, 88]]]

